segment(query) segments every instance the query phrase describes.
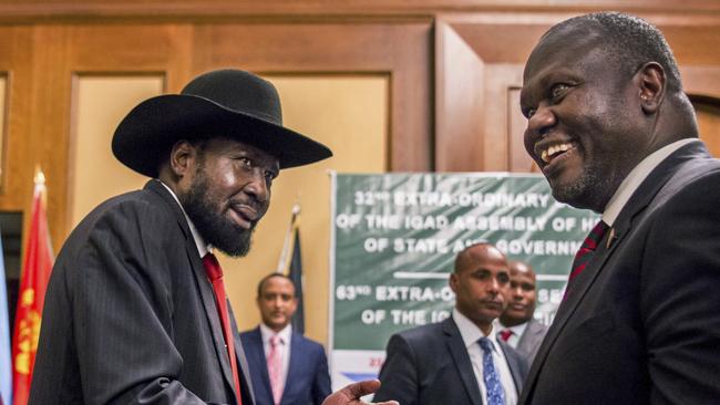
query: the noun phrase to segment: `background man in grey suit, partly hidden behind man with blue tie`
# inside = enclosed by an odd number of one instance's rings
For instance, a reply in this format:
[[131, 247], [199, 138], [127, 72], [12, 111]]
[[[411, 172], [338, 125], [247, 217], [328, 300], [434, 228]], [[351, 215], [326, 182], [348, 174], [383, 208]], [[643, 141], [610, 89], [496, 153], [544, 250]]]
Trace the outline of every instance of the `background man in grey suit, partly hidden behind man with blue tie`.
[[522, 261], [512, 260], [510, 266], [510, 289], [507, 289], [507, 308], [500, 316], [498, 336], [507, 342], [527, 364], [533, 363], [539, 344], [545, 338], [547, 326], [537, 322], [535, 313], [535, 272]]

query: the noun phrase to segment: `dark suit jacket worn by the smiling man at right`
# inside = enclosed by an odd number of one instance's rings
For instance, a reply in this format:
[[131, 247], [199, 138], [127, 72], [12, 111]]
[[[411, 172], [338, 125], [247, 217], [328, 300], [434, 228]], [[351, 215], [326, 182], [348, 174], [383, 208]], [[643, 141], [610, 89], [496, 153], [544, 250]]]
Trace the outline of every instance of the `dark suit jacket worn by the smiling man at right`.
[[720, 160], [699, 142], [676, 150], [613, 228], [574, 279], [520, 403], [719, 403]]

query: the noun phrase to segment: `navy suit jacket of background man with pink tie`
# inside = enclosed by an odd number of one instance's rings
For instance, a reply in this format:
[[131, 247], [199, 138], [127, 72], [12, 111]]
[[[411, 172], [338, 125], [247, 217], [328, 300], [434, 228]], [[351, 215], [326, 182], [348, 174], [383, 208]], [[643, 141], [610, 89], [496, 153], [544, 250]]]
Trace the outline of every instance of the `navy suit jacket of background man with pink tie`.
[[[240, 333], [253, 375], [256, 405], [272, 405], [272, 391], [263, 350], [260, 328]], [[290, 338], [290, 364], [281, 405], [320, 405], [330, 395], [330, 374], [325, 349], [299, 333]]]

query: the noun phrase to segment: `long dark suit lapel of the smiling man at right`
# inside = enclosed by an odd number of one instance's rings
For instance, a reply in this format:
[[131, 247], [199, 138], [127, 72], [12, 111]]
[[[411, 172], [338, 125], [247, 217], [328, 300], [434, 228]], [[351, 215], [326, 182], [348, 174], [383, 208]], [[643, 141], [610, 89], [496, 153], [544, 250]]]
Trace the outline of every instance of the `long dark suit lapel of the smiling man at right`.
[[[590, 285], [593, 285], [593, 282], [603, 271], [605, 262], [610, 258], [610, 256], [613, 256], [613, 252], [623, 243], [625, 237], [632, 229], [634, 219], [647, 208], [662, 186], [678, 170], [679, 166], [688, 158], [697, 157], [698, 155], [707, 155], [707, 149], [701, 143], [692, 143], [681, 147], [662, 160], [640, 184], [638, 189], [635, 190], [618, 215], [613, 227], [608, 229], [605, 238], [600, 241], [598, 249], [590, 259], [590, 262], [587, 264], [585, 270], [574, 279], [573, 293], [568, 294], [567, 299], [562, 302], [560, 307], [557, 309], [555, 320], [547, 331], [532, 364], [527, 378], [525, 380], [525, 390], [523, 391], [518, 404], [524, 404], [529, 397], [532, 397], [532, 392], [537, 382], [538, 374], [545, 363], [545, 359], [555, 344], [557, 336], [577, 310], [583, 298], [589, 290]], [[613, 238], [613, 240], [609, 240], [609, 243], [608, 238]]]

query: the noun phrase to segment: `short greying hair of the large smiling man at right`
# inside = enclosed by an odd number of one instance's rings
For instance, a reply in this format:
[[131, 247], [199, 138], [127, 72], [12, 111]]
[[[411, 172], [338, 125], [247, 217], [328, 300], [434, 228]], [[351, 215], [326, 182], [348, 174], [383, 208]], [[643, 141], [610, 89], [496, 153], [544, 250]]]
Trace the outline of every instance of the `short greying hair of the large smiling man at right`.
[[635, 15], [615, 11], [596, 12], [565, 20], [551, 28], [543, 38], [576, 27], [597, 32], [601, 46], [610, 51], [608, 58], [628, 75], [637, 73], [645, 63], [657, 62], [665, 70], [667, 89], [671, 92], [682, 91], [675, 56], [657, 27]]

